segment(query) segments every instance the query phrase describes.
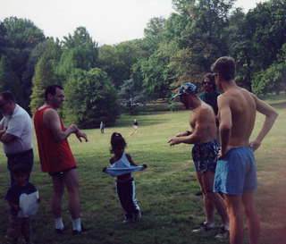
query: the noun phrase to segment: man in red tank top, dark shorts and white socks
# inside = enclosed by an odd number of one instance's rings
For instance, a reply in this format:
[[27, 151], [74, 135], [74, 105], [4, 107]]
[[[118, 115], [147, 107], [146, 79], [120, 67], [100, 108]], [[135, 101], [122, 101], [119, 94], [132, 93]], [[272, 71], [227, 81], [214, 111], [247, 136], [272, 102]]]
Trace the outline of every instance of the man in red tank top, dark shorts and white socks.
[[34, 114], [34, 124], [41, 168], [43, 172], [48, 172], [51, 175], [54, 185], [52, 212], [55, 217], [55, 231], [62, 233], [64, 230], [61, 202], [64, 186], [66, 186], [69, 194], [72, 233], [77, 234], [84, 231], [80, 221], [79, 176], [67, 138], [72, 133], [80, 142], [81, 139], [88, 141], [88, 138], [75, 124], [71, 124], [68, 128], [63, 126], [63, 121], [56, 112], [56, 109], [61, 107], [64, 101], [61, 86], [47, 87], [45, 99], [46, 103], [39, 107]]

